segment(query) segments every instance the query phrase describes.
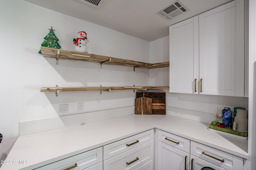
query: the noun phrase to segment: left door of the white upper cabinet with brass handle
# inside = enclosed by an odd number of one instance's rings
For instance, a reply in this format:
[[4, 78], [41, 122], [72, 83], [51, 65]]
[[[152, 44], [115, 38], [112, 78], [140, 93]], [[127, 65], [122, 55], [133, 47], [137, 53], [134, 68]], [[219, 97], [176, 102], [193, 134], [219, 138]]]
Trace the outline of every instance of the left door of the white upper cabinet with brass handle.
[[170, 26], [170, 92], [198, 94], [198, 16]]

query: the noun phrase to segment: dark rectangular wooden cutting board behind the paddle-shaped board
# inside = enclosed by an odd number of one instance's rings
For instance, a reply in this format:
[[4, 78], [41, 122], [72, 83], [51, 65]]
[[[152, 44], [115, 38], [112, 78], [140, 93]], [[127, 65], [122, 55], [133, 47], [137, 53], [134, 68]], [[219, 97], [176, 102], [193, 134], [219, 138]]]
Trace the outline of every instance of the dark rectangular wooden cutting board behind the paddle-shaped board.
[[[143, 92], [136, 92], [136, 98], [143, 96]], [[145, 92], [145, 97], [152, 98], [152, 114], [165, 115], [165, 92]]]

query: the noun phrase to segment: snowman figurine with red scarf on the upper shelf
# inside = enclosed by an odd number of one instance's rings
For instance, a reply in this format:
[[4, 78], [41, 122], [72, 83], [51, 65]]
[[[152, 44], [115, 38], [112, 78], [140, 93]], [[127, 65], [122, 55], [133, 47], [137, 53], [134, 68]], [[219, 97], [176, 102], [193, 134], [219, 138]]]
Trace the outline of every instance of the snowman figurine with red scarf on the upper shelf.
[[73, 43], [74, 43], [74, 45], [76, 45], [75, 50], [77, 52], [81, 52], [81, 53], [88, 53], [87, 48], [86, 48], [86, 44], [89, 41], [87, 40], [86, 32], [80, 31], [80, 32], [77, 33], [76, 37], [77, 38], [73, 39]]

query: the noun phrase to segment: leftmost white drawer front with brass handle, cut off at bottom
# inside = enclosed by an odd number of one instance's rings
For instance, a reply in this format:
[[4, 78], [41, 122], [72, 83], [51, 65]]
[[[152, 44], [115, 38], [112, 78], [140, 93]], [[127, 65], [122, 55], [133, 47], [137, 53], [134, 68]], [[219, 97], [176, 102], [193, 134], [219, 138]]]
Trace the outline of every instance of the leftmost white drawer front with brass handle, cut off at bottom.
[[64, 170], [75, 165], [77, 165], [77, 167], [72, 168], [72, 170], [83, 170], [102, 162], [102, 155], [102, 147], [100, 147], [98, 149], [90, 150], [88, 152], [77, 154], [58, 162], [42, 166], [37, 168], [37, 170]]

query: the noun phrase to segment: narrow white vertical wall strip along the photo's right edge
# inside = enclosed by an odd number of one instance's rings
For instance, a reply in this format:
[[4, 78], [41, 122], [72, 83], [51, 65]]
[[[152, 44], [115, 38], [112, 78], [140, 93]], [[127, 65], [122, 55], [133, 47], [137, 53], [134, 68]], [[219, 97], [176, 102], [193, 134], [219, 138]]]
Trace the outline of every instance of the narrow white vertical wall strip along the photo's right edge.
[[248, 154], [249, 170], [256, 169], [256, 1], [249, 1], [249, 108]]

